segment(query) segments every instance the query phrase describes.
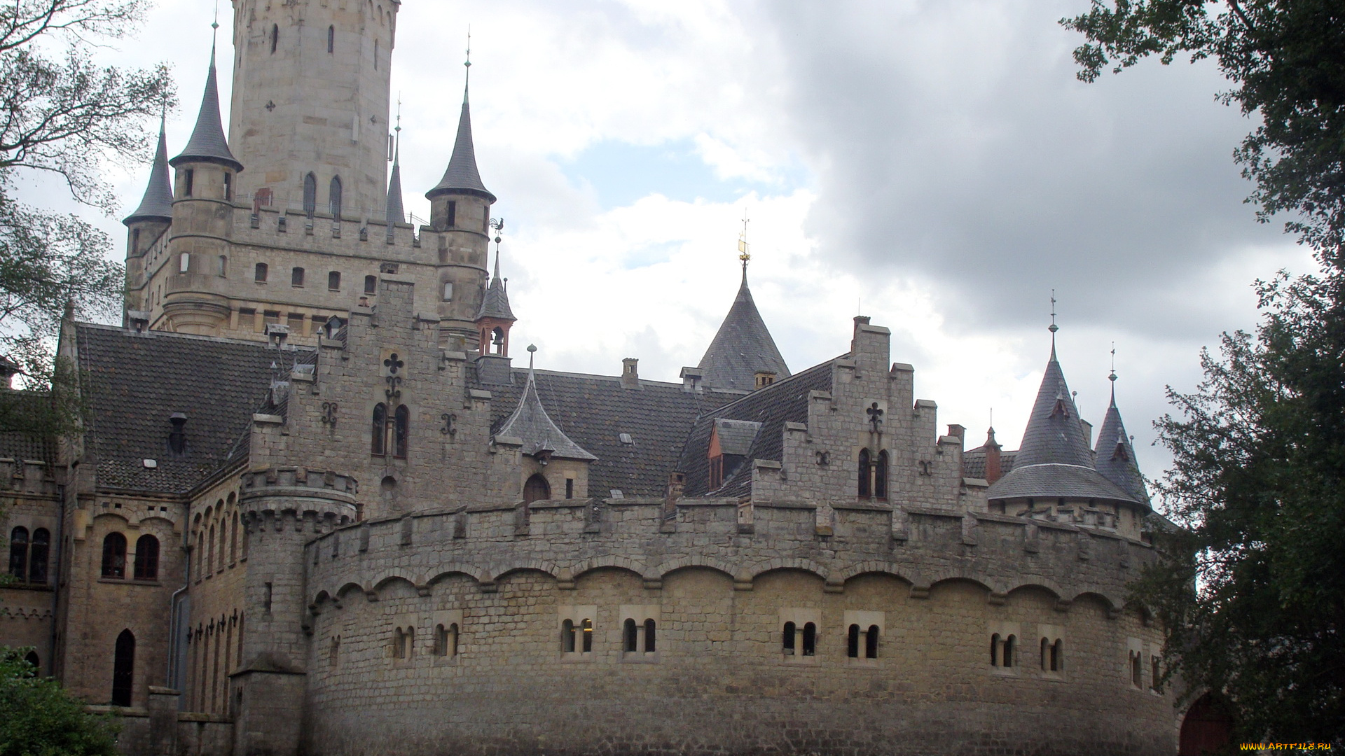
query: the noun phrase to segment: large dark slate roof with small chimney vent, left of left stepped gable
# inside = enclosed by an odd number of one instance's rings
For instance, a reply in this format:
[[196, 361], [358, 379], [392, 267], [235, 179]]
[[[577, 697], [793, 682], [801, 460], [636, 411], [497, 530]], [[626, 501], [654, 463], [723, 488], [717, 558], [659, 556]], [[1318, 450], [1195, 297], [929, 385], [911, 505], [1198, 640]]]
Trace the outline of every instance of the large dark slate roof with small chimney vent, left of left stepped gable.
[[[289, 375], [311, 350], [167, 331], [75, 324], [83, 391], [90, 404], [87, 455], [100, 488], [184, 494], [237, 461], [241, 437], [273, 378]], [[276, 365], [273, 369], [272, 365]], [[168, 417], [182, 412], [187, 449], [168, 449]], [[157, 463], [147, 468], [144, 460]]]

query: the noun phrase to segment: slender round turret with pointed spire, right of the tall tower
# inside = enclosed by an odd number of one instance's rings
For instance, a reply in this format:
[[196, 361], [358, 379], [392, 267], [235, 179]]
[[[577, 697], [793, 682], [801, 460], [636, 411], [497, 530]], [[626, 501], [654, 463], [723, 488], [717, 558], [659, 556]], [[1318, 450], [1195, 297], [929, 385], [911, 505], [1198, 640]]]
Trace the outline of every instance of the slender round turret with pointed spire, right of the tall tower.
[[[471, 63], [468, 63], [471, 66]], [[463, 87], [457, 140], [444, 178], [425, 196], [430, 200], [430, 229], [438, 237], [441, 330], [463, 347], [476, 343], [473, 320], [486, 293], [486, 254], [495, 195], [482, 183], [472, 145], [472, 112]]]

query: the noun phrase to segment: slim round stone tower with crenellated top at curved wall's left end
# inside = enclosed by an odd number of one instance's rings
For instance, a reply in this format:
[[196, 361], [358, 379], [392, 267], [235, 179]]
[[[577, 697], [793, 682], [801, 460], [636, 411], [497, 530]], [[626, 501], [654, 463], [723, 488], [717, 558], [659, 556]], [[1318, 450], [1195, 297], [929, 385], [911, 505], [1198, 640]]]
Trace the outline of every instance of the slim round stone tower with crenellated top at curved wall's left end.
[[356, 519], [348, 475], [269, 468], [242, 475], [246, 632], [234, 673], [235, 753], [297, 753], [308, 659], [304, 545]]

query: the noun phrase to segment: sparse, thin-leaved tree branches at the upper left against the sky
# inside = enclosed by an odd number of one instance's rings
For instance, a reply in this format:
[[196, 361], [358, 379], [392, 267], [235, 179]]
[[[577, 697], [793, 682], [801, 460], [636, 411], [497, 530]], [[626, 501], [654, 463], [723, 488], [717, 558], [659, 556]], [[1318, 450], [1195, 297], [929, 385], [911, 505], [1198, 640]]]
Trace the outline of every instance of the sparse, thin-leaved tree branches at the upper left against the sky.
[[[22, 369], [30, 389], [62, 394], [52, 352], [66, 305], [82, 317], [110, 316], [125, 276], [106, 234], [77, 215], [17, 202], [15, 180], [23, 171], [54, 174], [77, 200], [117, 210], [101, 167], [149, 157], [144, 124], [174, 104], [174, 85], [163, 65], [98, 66], [90, 50], [133, 31], [144, 8], [143, 0], [0, 4], [0, 356]], [[54, 398], [39, 406], [0, 393], [0, 432], [67, 430], [77, 408]]]

